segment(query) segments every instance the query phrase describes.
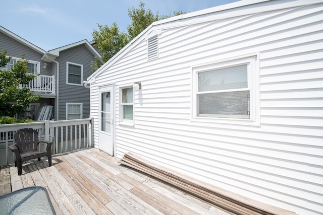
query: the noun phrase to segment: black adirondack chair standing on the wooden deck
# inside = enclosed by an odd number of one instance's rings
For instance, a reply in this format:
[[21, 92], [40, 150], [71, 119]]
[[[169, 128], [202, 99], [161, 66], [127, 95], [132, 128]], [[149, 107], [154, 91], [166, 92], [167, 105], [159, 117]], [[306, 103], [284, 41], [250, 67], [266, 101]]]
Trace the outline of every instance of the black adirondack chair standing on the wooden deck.
[[[51, 166], [51, 141], [39, 140], [38, 131], [32, 128], [20, 129], [14, 134], [15, 145], [9, 146], [16, 155], [15, 167], [18, 168], [18, 175], [22, 174], [22, 163], [31, 159], [47, 156], [48, 164]], [[39, 152], [37, 147], [40, 142], [47, 144], [46, 151]]]

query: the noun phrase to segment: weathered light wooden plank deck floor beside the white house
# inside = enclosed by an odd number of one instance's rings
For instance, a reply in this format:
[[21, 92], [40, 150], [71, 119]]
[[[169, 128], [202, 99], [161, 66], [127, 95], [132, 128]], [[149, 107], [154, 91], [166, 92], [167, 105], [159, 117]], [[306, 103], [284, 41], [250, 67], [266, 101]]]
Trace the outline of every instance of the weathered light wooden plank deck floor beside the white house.
[[119, 161], [94, 148], [53, 156], [51, 167], [35, 159], [21, 176], [0, 171], [0, 195], [42, 186], [57, 214], [228, 214]]

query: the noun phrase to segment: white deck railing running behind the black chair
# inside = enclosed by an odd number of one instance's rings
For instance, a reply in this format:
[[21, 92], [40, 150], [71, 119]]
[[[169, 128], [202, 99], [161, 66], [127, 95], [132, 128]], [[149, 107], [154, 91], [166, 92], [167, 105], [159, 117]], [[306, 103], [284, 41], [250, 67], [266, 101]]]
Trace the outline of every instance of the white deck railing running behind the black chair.
[[13, 134], [19, 129], [38, 130], [39, 139], [52, 141], [52, 154], [58, 154], [93, 146], [92, 120], [91, 118], [63, 121], [45, 120], [0, 125], [0, 166], [14, 163], [14, 154], [9, 150], [9, 146], [14, 144]]

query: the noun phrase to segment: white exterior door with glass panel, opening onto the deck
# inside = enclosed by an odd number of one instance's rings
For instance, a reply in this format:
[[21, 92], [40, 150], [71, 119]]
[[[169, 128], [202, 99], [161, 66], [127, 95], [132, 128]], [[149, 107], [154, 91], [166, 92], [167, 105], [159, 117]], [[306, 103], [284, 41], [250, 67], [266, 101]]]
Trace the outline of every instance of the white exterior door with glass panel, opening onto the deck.
[[114, 155], [114, 87], [100, 88], [98, 148]]

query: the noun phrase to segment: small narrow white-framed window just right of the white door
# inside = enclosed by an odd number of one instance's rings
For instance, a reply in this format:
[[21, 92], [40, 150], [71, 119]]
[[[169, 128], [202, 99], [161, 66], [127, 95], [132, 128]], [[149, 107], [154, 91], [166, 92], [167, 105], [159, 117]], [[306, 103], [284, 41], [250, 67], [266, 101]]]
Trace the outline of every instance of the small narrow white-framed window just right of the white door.
[[133, 121], [133, 89], [121, 89], [121, 105], [120, 105], [120, 121], [132, 122]]

